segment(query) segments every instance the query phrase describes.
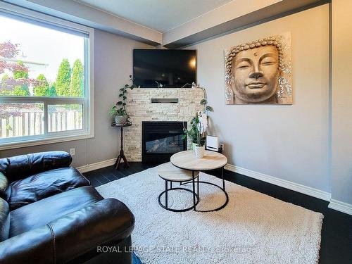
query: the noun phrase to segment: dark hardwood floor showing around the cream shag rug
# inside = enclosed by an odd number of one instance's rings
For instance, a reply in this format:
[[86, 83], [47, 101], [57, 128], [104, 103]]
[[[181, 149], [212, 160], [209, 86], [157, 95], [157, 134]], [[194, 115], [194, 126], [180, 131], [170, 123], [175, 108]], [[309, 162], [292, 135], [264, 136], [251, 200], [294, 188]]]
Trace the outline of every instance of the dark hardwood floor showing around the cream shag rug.
[[[130, 168], [115, 170], [113, 166], [84, 173], [84, 176], [94, 187], [101, 184], [127, 177], [133, 173], [146, 170], [154, 165], [145, 165], [139, 162], [130, 163]], [[218, 171], [208, 172], [219, 176]], [[322, 223], [322, 241], [320, 245], [319, 263], [344, 264], [352, 263], [352, 215], [340, 213], [337, 210], [327, 208], [329, 202], [313, 198], [306, 194], [284, 189], [274, 184], [246, 177], [234, 172], [225, 170], [225, 178], [249, 189], [260, 191], [272, 197], [294, 203], [297, 206], [320, 212], [324, 215]]]

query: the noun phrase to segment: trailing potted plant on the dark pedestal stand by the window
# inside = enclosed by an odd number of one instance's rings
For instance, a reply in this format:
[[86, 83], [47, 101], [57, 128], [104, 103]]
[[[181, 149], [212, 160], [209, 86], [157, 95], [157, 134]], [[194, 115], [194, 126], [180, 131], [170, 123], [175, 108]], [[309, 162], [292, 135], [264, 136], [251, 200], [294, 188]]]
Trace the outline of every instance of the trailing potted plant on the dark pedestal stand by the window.
[[115, 118], [115, 124], [116, 125], [125, 125], [127, 123], [127, 111], [126, 111], [126, 99], [127, 99], [127, 89], [134, 89], [137, 86], [134, 85], [133, 80], [132, 80], [132, 75], [130, 75], [130, 80], [132, 82], [132, 85], [125, 84], [124, 87], [120, 88], [120, 94], [119, 96], [119, 101], [116, 103], [115, 106], [110, 108], [110, 115], [112, 118]]

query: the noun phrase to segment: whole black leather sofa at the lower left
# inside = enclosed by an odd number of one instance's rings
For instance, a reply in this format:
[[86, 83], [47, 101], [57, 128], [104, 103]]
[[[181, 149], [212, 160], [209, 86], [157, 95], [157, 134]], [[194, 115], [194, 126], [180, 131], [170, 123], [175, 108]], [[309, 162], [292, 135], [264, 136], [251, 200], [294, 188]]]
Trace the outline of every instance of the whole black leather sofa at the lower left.
[[64, 151], [0, 159], [1, 264], [132, 263], [134, 216], [71, 161]]

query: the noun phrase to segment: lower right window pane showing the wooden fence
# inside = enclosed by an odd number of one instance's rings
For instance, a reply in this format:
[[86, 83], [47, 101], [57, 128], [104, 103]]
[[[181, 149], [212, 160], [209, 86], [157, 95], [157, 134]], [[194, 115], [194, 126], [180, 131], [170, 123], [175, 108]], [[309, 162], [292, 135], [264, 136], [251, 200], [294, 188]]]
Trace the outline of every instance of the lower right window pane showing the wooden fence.
[[48, 131], [82, 130], [82, 104], [61, 104], [48, 106]]

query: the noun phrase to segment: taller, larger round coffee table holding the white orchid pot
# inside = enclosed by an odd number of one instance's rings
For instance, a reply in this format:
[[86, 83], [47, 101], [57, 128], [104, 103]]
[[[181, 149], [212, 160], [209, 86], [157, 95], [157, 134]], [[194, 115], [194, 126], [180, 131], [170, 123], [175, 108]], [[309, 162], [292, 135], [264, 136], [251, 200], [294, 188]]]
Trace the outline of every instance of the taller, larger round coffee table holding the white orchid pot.
[[[195, 184], [195, 177], [196, 171], [207, 171], [207, 170], [215, 170], [215, 169], [221, 169], [221, 176], [222, 176], [222, 187], [214, 184], [213, 182], [204, 182], [200, 181], [199, 177], [197, 180], [197, 189], [198, 189], [198, 196], [196, 196], [196, 193], [193, 191], [193, 201], [194, 201], [194, 208], [193, 210], [196, 210], [196, 205], [199, 203], [200, 196], [199, 196], [199, 183], [201, 184], [210, 184], [215, 187], [218, 187], [221, 191], [224, 192], [226, 196], [226, 201], [225, 203], [222, 204], [222, 206], [219, 206], [218, 208], [211, 209], [211, 210], [197, 210], [199, 212], [212, 212], [215, 210], [221, 210], [224, 208], [227, 203], [229, 202], [229, 196], [227, 192], [225, 191], [225, 180], [224, 180], [224, 167], [227, 164], [227, 158], [222, 155], [221, 153], [214, 152], [214, 151], [205, 151], [204, 157], [203, 158], [196, 158], [194, 155], [194, 151], [181, 151], [173, 154], [170, 158], [170, 161], [172, 165], [175, 165], [175, 167], [183, 169], [183, 170], [189, 170], [191, 171], [191, 182], [184, 182], [181, 184], [193, 184], [193, 190], [194, 190], [194, 184]], [[197, 201], [196, 201], [197, 200]]]

